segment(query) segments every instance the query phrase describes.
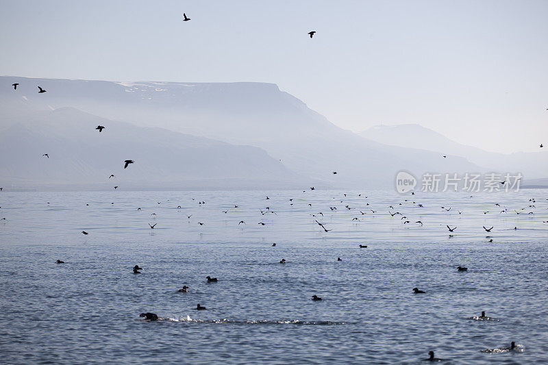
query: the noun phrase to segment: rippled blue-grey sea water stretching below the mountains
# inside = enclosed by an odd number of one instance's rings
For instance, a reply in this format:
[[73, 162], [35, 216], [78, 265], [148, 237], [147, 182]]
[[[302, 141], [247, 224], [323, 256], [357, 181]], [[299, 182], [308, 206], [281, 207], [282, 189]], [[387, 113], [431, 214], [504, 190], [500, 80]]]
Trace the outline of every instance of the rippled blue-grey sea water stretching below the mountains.
[[0, 361], [548, 362], [547, 190], [361, 193], [4, 190]]

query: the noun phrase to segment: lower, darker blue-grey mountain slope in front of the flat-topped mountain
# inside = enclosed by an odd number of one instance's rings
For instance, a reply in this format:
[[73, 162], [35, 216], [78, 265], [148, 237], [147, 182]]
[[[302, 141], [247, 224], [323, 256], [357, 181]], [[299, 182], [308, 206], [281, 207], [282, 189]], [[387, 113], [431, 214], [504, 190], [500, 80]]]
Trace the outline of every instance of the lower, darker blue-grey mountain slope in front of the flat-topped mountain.
[[[97, 125], [106, 128], [99, 133]], [[222, 190], [308, 184], [257, 147], [138, 127], [74, 108], [29, 112], [10, 123], [0, 131], [0, 155], [0, 185], [12, 188]], [[123, 168], [124, 160], [135, 163]], [[108, 179], [111, 174], [115, 177]]]

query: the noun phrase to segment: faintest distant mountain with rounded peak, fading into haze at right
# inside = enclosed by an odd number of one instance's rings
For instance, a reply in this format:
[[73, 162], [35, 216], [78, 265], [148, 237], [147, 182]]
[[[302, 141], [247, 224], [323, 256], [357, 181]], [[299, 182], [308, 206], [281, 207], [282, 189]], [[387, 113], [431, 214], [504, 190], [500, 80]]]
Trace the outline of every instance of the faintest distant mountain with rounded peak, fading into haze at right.
[[538, 152], [495, 153], [454, 142], [418, 124], [377, 125], [360, 136], [399, 147], [421, 148], [444, 155], [457, 155], [483, 166], [488, 171], [522, 173], [527, 179], [548, 176], [548, 150]]

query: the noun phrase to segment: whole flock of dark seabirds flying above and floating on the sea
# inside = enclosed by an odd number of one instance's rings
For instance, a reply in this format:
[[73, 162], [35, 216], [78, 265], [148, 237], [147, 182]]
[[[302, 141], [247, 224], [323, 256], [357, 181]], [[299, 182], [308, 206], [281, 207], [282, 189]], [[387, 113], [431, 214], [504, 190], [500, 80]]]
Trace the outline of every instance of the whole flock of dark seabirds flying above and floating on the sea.
[[[190, 18], [188, 18], [188, 16], [186, 16], [186, 13], [184, 13], [183, 16], [184, 16], [183, 21], [190, 21]], [[310, 36], [310, 38], [313, 38], [313, 37], [314, 37], [314, 34], [316, 34], [316, 31], [308, 32], [308, 35]], [[14, 83], [14, 84], [12, 84], [12, 86], [13, 86], [14, 90], [17, 90], [17, 86], [19, 86], [19, 84], [18, 84], [18, 83]], [[38, 93], [39, 93], [39, 94], [43, 94], [43, 93], [45, 93], [45, 92], [47, 92], [47, 90], [45, 90], [44, 88], [42, 88], [42, 86], [38, 86]], [[547, 109], [547, 110], [548, 110], [548, 109]], [[106, 127], [103, 126], [103, 125], [97, 125], [97, 127], [96, 127], [95, 129], [98, 130], [99, 133], [101, 133], [105, 128], [106, 128]], [[541, 144], [540, 144], [540, 148], [542, 148], [542, 147], [543, 147], [543, 144], [541, 143]], [[48, 158], [48, 159], [50, 158], [49, 153], [44, 153], [44, 154], [42, 155], [42, 157], [45, 157], [45, 158]], [[443, 158], [447, 158], [447, 155], [443, 155], [442, 157], [443, 157]], [[125, 169], [125, 168], [127, 168], [127, 167], [129, 166], [129, 164], [134, 164], [134, 163], [135, 163], [134, 160], [125, 160], [125, 161], [123, 162], [123, 168]], [[333, 174], [333, 175], [336, 175], [336, 174], [337, 174], [337, 171], [332, 171], [332, 174]], [[111, 175], [108, 177], [108, 179], [111, 179], [111, 178], [114, 178], [114, 177], [115, 177], [115, 175], [114, 175], [114, 174], [111, 174]], [[501, 183], [501, 184], [502, 184], [502, 183]], [[114, 186], [114, 189], [115, 189], [115, 190], [116, 190], [117, 188], [119, 188], [119, 186]], [[3, 190], [3, 188], [0, 188], [0, 190]], [[310, 188], [310, 190], [311, 190], [311, 191], [312, 191], [312, 190], [316, 190], [316, 188], [314, 188], [314, 187], [312, 186], [312, 187]], [[307, 190], [303, 190], [303, 192], [306, 192], [306, 191], [307, 191]], [[414, 194], [414, 193], [412, 193], [412, 194]], [[344, 195], [345, 195], [345, 197], [346, 197], [346, 194], [344, 194]], [[361, 196], [361, 194], [359, 194], [359, 196]], [[367, 198], [367, 197], [365, 197], [365, 198]], [[269, 199], [270, 199], [269, 197], [266, 197], [266, 200], [269, 200]], [[193, 199], [193, 200], [194, 200], [194, 199]], [[547, 199], [547, 200], [548, 200], [548, 199]], [[293, 199], [289, 199], [289, 201], [290, 201], [289, 204], [290, 204], [290, 205], [293, 205], [293, 203], [292, 203]], [[340, 201], [340, 202], [343, 203], [343, 201]], [[409, 203], [409, 202], [410, 202], [410, 199], [405, 199], [405, 201], [399, 203], [399, 205], [404, 205], [404, 204]], [[158, 202], [158, 204], [160, 204], [160, 203], [161, 203], [161, 202]], [[199, 201], [199, 205], [203, 205], [203, 204], [205, 204], [205, 203], [206, 203], [205, 201]], [[535, 203], [535, 200], [534, 200], [534, 199], [530, 199], [529, 208], [534, 208], [534, 207], [535, 207], [535, 206], [534, 206], [534, 203]], [[112, 204], [114, 204], [114, 203], [112, 203]], [[312, 206], [311, 203], [308, 203], [308, 205], [309, 205], [309, 206]], [[366, 207], [367, 207], [368, 205], [369, 205], [369, 203], [366, 203]], [[412, 201], [412, 205], [414, 205], [415, 207], [423, 207], [423, 204], [416, 203], [415, 201]], [[500, 206], [498, 203], [497, 203], [496, 205]], [[181, 206], [179, 205], [178, 208], [180, 208], [180, 207], [181, 207]], [[238, 208], [238, 205], [234, 205], [234, 208]], [[401, 216], [400, 220], [401, 220], [401, 222], [402, 222], [403, 225], [410, 224], [410, 223], [414, 222], [414, 224], [419, 224], [420, 227], [423, 227], [424, 223], [423, 223], [421, 220], [416, 220], [416, 221], [414, 221], [414, 220], [408, 218], [408, 216], [403, 215], [403, 214], [401, 214], [401, 213], [398, 212], [398, 211], [394, 212], [395, 208], [394, 208], [393, 205], [389, 205], [388, 208], [391, 209], [391, 211], [388, 210], [388, 214], [389, 214], [392, 218], [395, 218], [395, 216], [398, 216], [398, 215]], [[442, 206], [441, 208], [442, 208], [442, 209], [445, 209], [447, 212], [449, 212], [449, 210], [451, 210], [451, 207], [447, 208], [447, 207]], [[345, 209], [346, 209], [346, 210], [355, 210], [354, 207], [350, 207], [349, 205], [345, 205]], [[367, 208], [365, 208], [364, 210], [356, 210], [356, 212], [360, 212], [360, 216], [364, 216], [364, 215], [366, 215], [366, 214], [368, 214], [368, 216], [371, 216], [372, 214], [376, 214], [376, 213], [377, 213], [377, 210], [373, 210], [373, 209], [368, 209], [368, 210], [366, 210], [366, 209], [367, 209]], [[378, 208], [377, 208], [377, 209], [378, 209]], [[520, 212], [518, 212], [517, 210], [514, 210], [514, 212], [515, 212], [516, 214], [522, 214], [522, 213], [524, 213], [523, 211], [524, 211], [525, 209], [527, 209], [527, 208], [523, 207], [523, 208], [521, 208], [521, 211], [520, 211]], [[139, 207], [138, 210], [141, 210], [141, 208]], [[335, 211], [337, 210], [337, 207], [336, 207], [336, 206], [329, 206], [329, 210], [330, 210], [331, 212], [335, 212]], [[228, 211], [229, 211], [229, 210], [223, 210], [223, 213], [227, 214]], [[371, 214], [369, 214], [369, 212], [371, 212]], [[484, 214], [488, 214], [488, 213], [489, 213], [489, 212], [484, 212]], [[508, 213], [508, 209], [506, 209], [506, 207], [505, 207], [503, 210], [501, 210], [501, 212], [500, 212], [499, 214], [506, 214], [506, 213]], [[273, 210], [271, 210], [271, 207], [266, 206], [266, 207], [264, 208], [264, 210], [260, 210], [260, 214], [262, 214], [262, 216], [264, 216], [265, 214], [276, 214], [276, 212], [273, 211]], [[459, 210], [459, 211], [458, 211], [458, 214], [462, 214], [462, 211]], [[527, 214], [534, 214], [534, 212], [528, 212]], [[153, 214], [153, 215], [155, 215], [155, 214]], [[328, 228], [326, 227], [325, 223], [321, 223], [321, 222], [319, 222], [319, 221], [317, 220], [319, 216], [322, 216], [322, 217], [323, 217], [323, 212], [317, 212], [317, 213], [310, 214], [310, 215], [314, 218], [314, 222], [315, 222], [319, 227], [321, 227], [321, 229], [322, 229], [325, 233], [328, 233], [329, 231], [332, 231], [332, 230], [333, 230], [333, 228], [328, 229]], [[188, 216], [188, 219], [189, 219], [189, 220], [190, 220], [190, 217], [191, 217], [191, 216], [192, 216], [192, 214]], [[360, 216], [353, 217], [353, 218], [352, 218], [352, 221], [353, 221], [353, 222], [354, 222], [354, 221], [360, 221]], [[4, 218], [2, 218], [2, 219], [5, 220], [6, 218], [4, 217]], [[203, 223], [203, 222], [197, 222], [197, 223], [198, 223], [199, 225], [201, 225], [201, 226], [205, 225], [205, 223]], [[548, 221], [545, 221], [545, 222], [543, 222], [543, 223], [548, 223]], [[151, 224], [149, 223], [150, 229], [154, 229], [154, 228], [156, 227], [157, 224], [158, 224], [158, 223], [154, 223], [153, 225], [151, 225]], [[238, 221], [238, 226], [239, 226], [239, 225], [242, 225], [242, 224], [243, 224], [243, 225], [246, 225], [245, 221], [243, 221], [243, 220]], [[260, 221], [260, 222], [257, 223], [257, 224], [258, 224], [258, 225], [261, 225], [261, 226], [266, 225], [266, 223], [264, 223], [264, 222], [262, 222], [262, 221]], [[455, 231], [455, 230], [457, 229], [457, 227], [452, 227], [452, 228], [451, 228], [449, 225], [446, 225], [446, 227], [447, 227], [447, 229], [449, 230], [449, 232], [453, 232], [453, 231]], [[494, 228], [494, 227], [488, 228], [488, 227], [483, 226], [483, 229], [484, 229], [486, 232], [490, 232], [493, 228]], [[517, 229], [517, 227], [514, 227], [514, 229]], [[89, 233], [88, 233], [87, 231], [82, 231], [82, 234], [88, 235]], [[451, 237], [452, 235], [449, 235], [449, 236]], [[490, 238], [490, 236], [487, 236], [486, 238]], [[490, 238], [490, 240], [489, 240], [488, 242], [493, 242], [493, 238]], [[272, 246], [275, 247], [276, 244], [273, 243]], [[359, 247], [360, 247], [360, 249], [364, 249], [364, 248], [367, 248], [367, 245], [360, 244]], [[340, 257], [337, 257], [337, 261], [342, 261], [342, 259], [341, 259]], [[57, 264], [64, 264], [64, 261], [62, 261], [62, 260], [57, 260], [56, 263], [57, 263]], [[286, 263], [286, 259], [282, 258], [282, 260], [280, 260], [279, 263], [280, 263], [280, 264], [285, 264], [285, 263]], [[140, 273], [141, 273], [140, 270], [143, 270], [143, 269], [142, 269], [140, 266], [135, 265], [134, 268], [133, 268], [133, 273], [134, 273], [134, 274], [140, 274]], [[458, 266], [458, 267], [457, 267], [457, 270], [460, 271], [460, 272], [462, 272], [462, 271], [467, 271], [468, 268], [463, 267], [463, 266]], [[206, 280], [207, 280], [208, 283], [214, 283], [214, 282], [217, 282], [217, 281], [218, 281], [218, 279], [217, 279], [216, 277], [210, 277], [210, 276], [206, 277]], [[188, 286], [183, 286], [181, 289], [178, 290], [178, 292], [188, 292], [188, 289], [189, 289]], [[425, 294], [425, 291], [424, 291], [424, 290], [419, 290], [419, 288], [413, 288], [413, 289], [412, 289], [412, 292], [413, 292], [414, 294]], [[312, 301], [321, 301], [322, 299], [321, 299], [321, 297], [318, 297], [316, 294], [314, 294], [314, 295], [312, 295], [312, 298], [311, 298], [310, 300], [312, 300]], [[195, 308], [195, 310], [207, 310], [207, 308], [206, 308], [206, 307], [203, 307], [201, 304], [198, 303], [197, 306], [196, 306], [196, 308]], [[150, 321], [162, 319], [162, 318], [160, 318], [157, 314], [151, 313], [151, 312], [141, 313], [141, 314], [139, 314], [139, 316], [142, 317], [142, 318], [144, 318], [145, 320], [150, 320]], [[475, 316], [475, 317], [471, 317], [471, 318], [469, 318], [469, 319], [473, 319], [473, 320], [497, 320], [497, 318], [491, 318], [491, 317], [486, 316], [486, 315], [485, 315], [485, 312], [482, 312], [482, 315], [481, 315], [481, 316]], [[510, 347], [501, 347], [501, 348], [498, 348], [498, 349], [486, 349], [486, 350], [482, 350], [482, 352], [485, 352], [485, 353], [497, 353], [497, 352], [514, 351], [514, 350], [516, 350], [516, 349], [521, 349], [521, 347], [519, 347], [519, 346], [516, 347], [515, 342], [511, 342]], [[428, 357], [427, 359], [425, 359], [425, 360], [427, 360], [427, 361], [431, 361], [431, 362], [440, 362], [440, 361], [443, 361], [443, 359], [440, 359], [440, 358], [434, 356], [434, 351], [429, 351], [428, 354], [429, 354], [429, 357]]]

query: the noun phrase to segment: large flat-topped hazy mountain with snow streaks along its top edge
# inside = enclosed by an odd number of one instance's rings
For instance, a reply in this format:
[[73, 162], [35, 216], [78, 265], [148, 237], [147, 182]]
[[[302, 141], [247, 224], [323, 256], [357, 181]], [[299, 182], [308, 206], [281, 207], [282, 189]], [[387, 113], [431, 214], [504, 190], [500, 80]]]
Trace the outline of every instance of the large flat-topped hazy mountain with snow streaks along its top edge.
[[[141, 127], [162, 127], [266, 150], [286, 168], [323, 186], [392, 188], [398, 171], [482, 171], [465, 158], [441, 158], [424, 149], [392, 147], [340, 129], [275, 84], [111, 82], [0, 77], [0, 108], [77, 108]], [[47, 92], [38, 94], [42, 86]], [[0, 128], [10, 125], [0, 121]], [[337, 171], [333, 175], [332, 171]]]

